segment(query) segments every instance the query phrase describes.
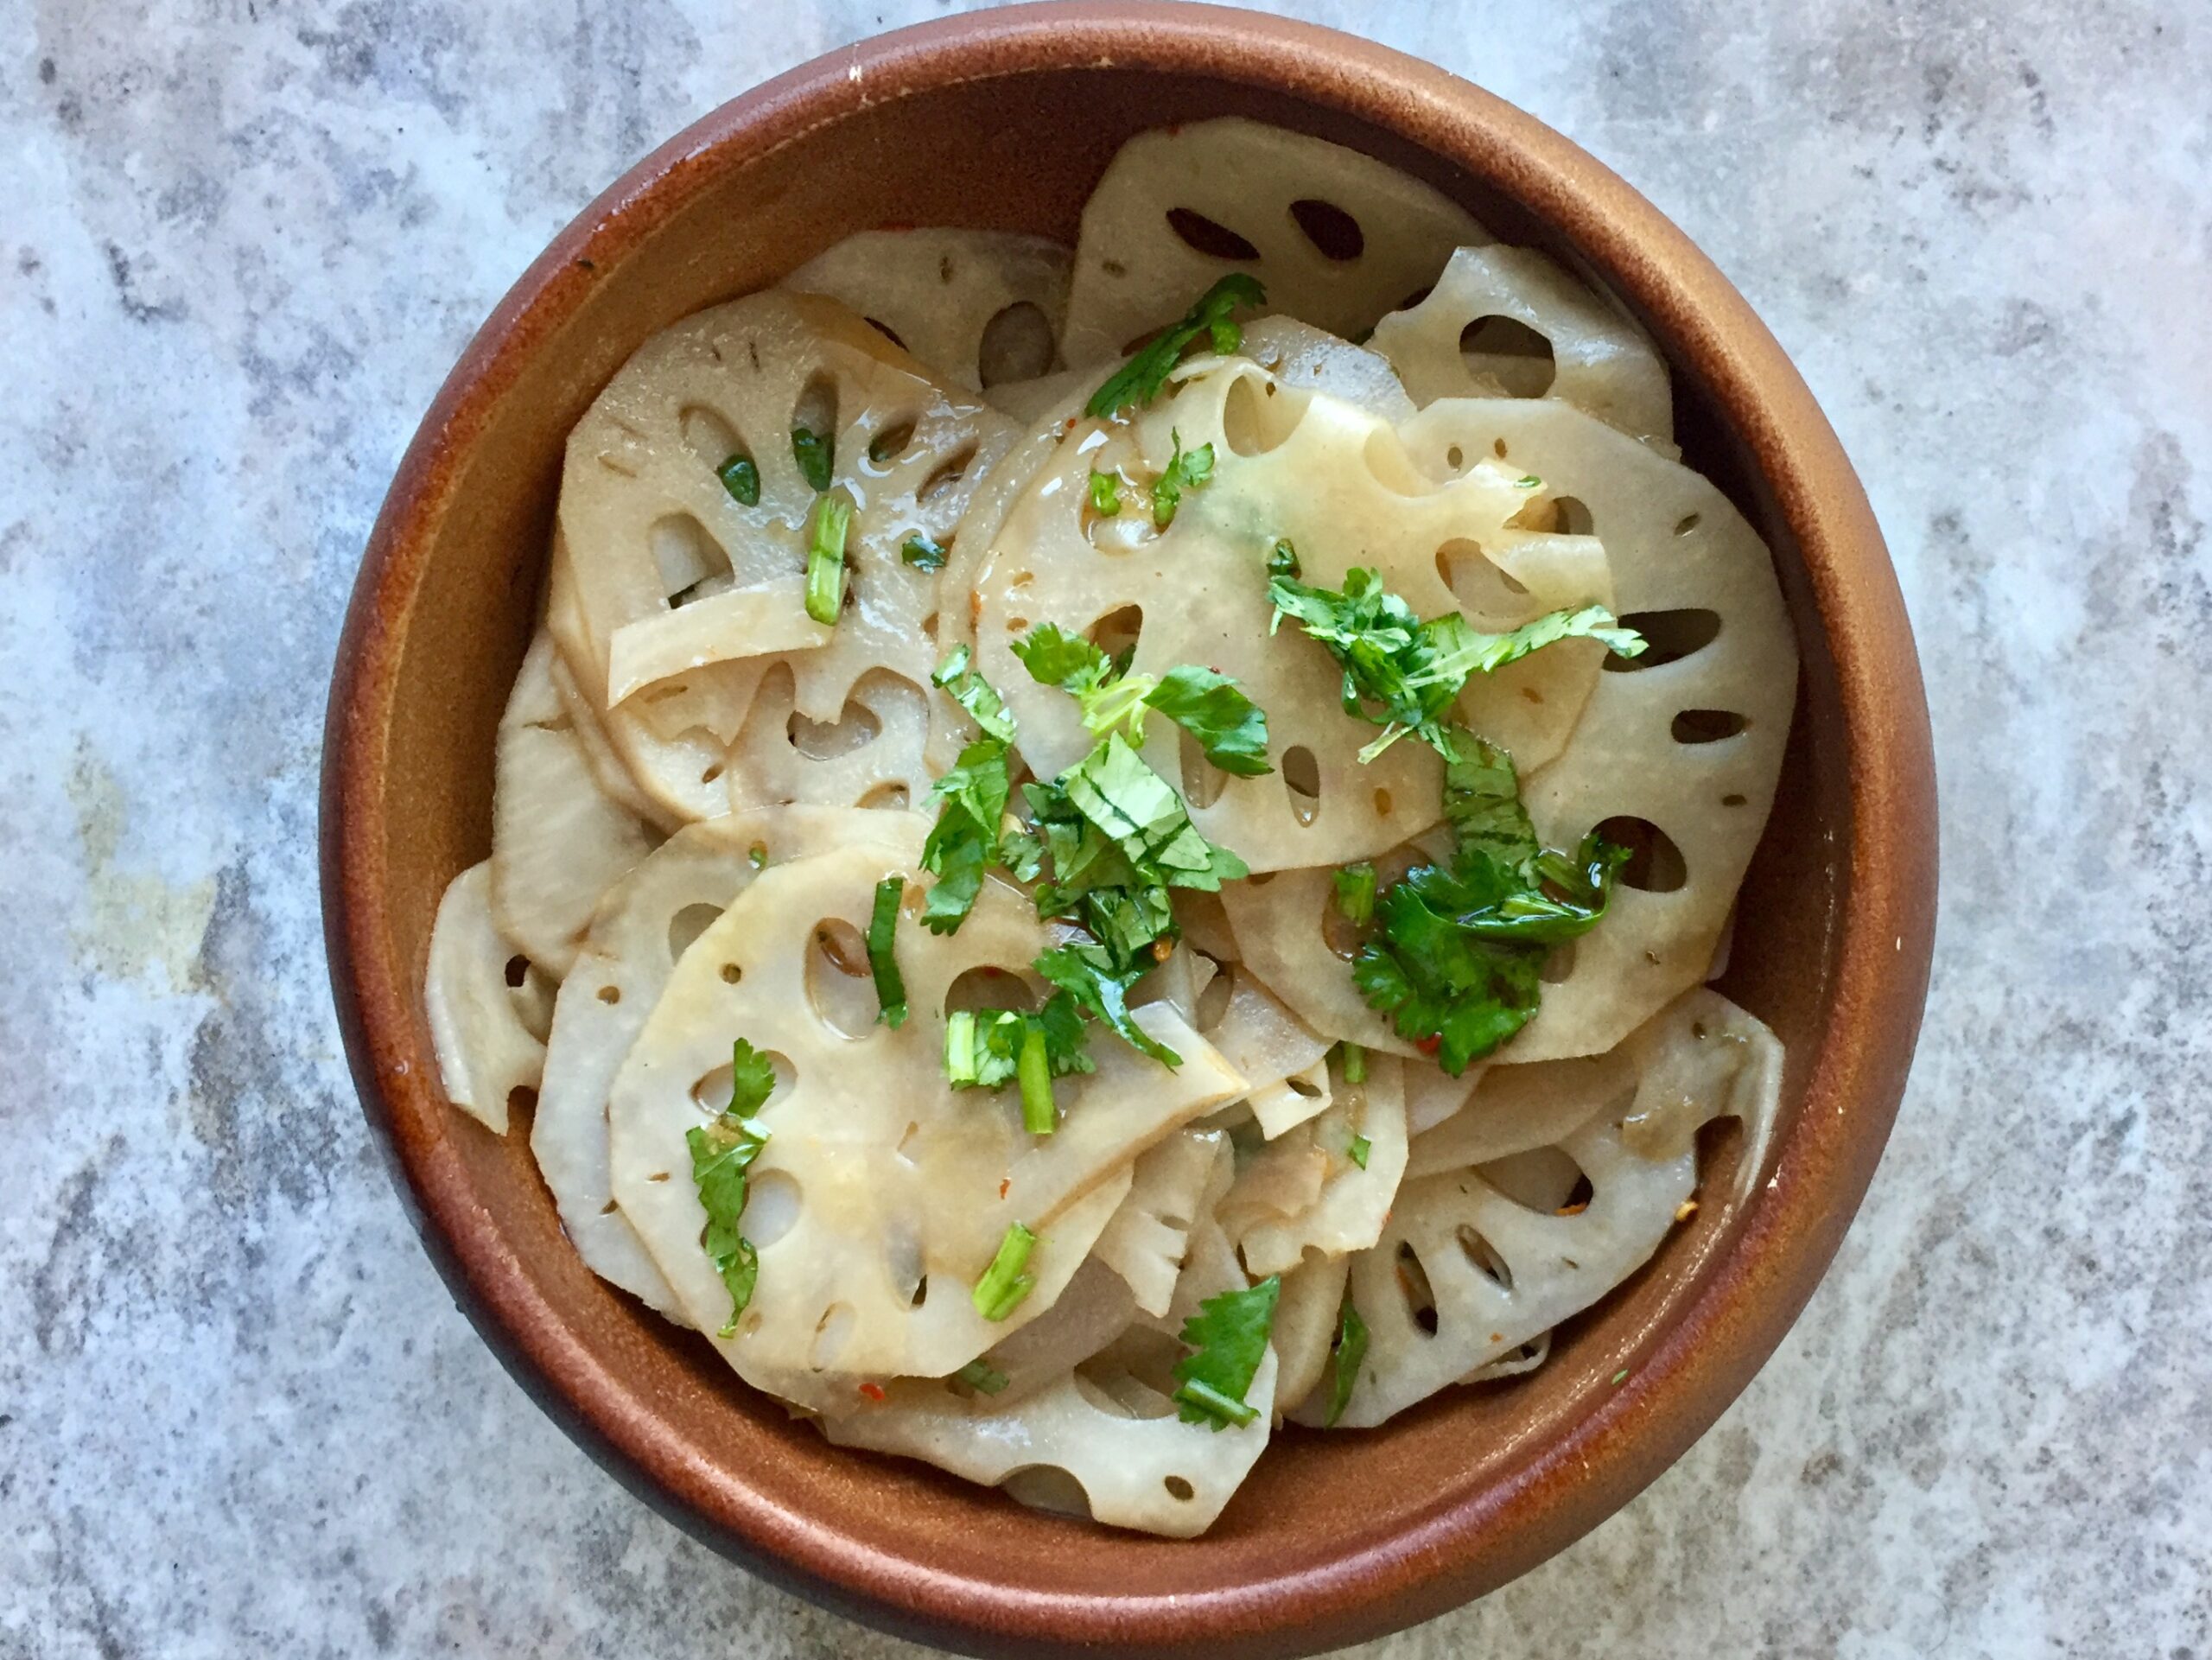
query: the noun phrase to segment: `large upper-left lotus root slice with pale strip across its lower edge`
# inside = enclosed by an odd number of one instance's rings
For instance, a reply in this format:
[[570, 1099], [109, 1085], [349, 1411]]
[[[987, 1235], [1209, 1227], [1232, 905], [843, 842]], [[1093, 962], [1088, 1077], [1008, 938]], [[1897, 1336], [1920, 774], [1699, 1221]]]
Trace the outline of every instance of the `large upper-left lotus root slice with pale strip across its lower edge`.
[[[847, 602], [834, 629], [803, 606], [816, 489], [794, 429], [832, 447], [854, 505]], [[922, 682], [936, 573], [900, 558], [942, 542], [1011, 423], [933, 378], [843, 305], [750, 294], [646, 341], [568, 438], [560, 529], [584, 653], [571, 666], [615, 708], [710, 662], [794, 653], [799, 708], [836, 719], [867, 668]], [[721, 478], [752, 463], [757, 500]]]

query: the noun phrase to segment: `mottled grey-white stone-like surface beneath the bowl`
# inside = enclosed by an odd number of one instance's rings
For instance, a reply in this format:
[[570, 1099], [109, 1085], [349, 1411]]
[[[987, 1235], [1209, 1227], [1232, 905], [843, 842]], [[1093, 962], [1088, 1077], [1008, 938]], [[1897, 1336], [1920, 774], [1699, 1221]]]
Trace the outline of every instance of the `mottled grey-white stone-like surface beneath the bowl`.
[[[0, 0], [0, 1653], [914, 1653], [657, 1521], [453, 1310], [338, 1058], [314, 779], [504, 286], [721, 97], [938, 11]], [[1296, 11], [1750, 294], [1889, 531], [1947, 808], [1911, 1096], [1796, 1332], [1615, 1521], [1363, 1653], [2205, 1660], [2212, 18]]]

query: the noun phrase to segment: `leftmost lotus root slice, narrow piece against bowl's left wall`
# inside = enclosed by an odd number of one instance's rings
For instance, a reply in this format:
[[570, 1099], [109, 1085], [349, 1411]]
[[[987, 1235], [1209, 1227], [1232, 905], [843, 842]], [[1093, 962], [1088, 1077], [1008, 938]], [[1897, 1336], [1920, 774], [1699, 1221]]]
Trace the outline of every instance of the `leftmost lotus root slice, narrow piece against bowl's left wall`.
[[491, 921], [491, 861], [469, 865], [438, 901], [422, 1005], [445, 1098], [495, 1135], [507, 1133], [507, 1098], [535, 1089], [544, 1069], [531, 1031], [544, 981], [533, 976]]

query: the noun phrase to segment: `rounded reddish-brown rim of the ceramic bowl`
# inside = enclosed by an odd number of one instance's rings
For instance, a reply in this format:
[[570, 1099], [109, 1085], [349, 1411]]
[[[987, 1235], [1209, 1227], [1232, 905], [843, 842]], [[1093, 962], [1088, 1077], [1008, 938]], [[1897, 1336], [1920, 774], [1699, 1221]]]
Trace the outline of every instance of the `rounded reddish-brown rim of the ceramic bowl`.
[[[416, 1047], [416, 987], [385, 925], [385, 744], [403, 642], [465, 458], [520, 365], [595, 270], [728, 164], [854, 111], [973, 80], [1148, 69], [1285, 93], [1394, 133], [1573, 224], [1590, 268], [1694, 361], [1796, 536], [1834, 657], [1851, 768], [1834, 1016], [1761, 1204], [1648, 1359], [1493, 1487], [1327, 1569], [1199, 1596], [1040, 1596], [947, 1574], [787, 1514], [719, 1479], [615, 1383], [484, 1224]], [[1316, 24], [1177, 0], [1075, 0], [931, 20], [801, 64], [721, 104], [591, 201], [498, 303], [429, 405], [369, 536], [325, 717], [325, 947], [338, 1025], [394, 1186], [456, 1301], [524, 1390], [630, 1492], [752, 1571], [883, 1629], [973, 1653], [1310, 1653], [1440, 1614], [1535, 1567], [1666, 1470], [1803, 1310], [1865, 1195], [1911, 1060], [1936, 916], [1929, 715], [1896, 573], [1865, 491], [1803, 378], [1725, 277], [1650, 201], [1500, 97]]]

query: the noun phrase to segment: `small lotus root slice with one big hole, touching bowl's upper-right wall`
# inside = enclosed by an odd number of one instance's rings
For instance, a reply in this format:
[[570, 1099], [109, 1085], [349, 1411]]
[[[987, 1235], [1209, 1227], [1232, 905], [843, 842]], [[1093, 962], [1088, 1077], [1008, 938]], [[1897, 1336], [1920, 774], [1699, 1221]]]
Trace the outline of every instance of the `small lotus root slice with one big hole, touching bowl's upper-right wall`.
[[1460, 248], [1427, 299], [1376, 323], [1371, 345], [1413, 403], [1562, 398], [1635, 438], [1674, 438], [1659, 352], [1533, 248]]

